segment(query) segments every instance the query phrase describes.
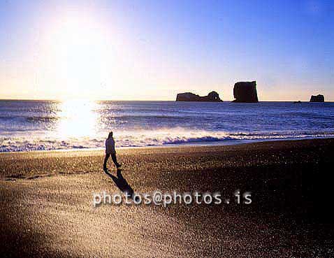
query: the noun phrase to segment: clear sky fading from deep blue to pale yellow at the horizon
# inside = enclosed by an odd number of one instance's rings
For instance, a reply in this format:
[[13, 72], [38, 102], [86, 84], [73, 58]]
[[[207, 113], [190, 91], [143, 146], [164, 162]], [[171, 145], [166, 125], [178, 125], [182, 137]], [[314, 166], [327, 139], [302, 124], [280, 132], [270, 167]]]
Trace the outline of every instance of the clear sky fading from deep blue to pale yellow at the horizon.
[[0, 99], [334, 101], [334, 1], [0, 1]]

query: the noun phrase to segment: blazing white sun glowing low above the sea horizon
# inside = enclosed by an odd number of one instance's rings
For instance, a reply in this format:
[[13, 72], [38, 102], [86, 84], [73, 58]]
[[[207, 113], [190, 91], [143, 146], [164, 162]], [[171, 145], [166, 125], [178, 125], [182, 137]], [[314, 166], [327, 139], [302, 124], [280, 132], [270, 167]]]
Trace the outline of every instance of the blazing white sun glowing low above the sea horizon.
[[[96, 99], [115, 69], [110, 35], [98, 20], [68, 15], [48, 31], [43, 68], [60, 99]], [[50, 78], [52, 77], [52, 78]]]

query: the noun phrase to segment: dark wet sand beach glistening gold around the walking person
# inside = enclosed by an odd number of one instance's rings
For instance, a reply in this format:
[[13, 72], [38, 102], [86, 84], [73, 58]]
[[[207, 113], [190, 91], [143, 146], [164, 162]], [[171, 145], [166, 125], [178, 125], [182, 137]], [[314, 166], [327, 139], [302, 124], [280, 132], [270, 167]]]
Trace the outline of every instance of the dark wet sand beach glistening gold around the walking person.
[[[333, 257], [334, 139], [119, 150], [135, 192], [252, 203], [92, 206], [102, 151], [0, 154], [3, 257]], [[117, 175], [111, 162], [110, 173]]]

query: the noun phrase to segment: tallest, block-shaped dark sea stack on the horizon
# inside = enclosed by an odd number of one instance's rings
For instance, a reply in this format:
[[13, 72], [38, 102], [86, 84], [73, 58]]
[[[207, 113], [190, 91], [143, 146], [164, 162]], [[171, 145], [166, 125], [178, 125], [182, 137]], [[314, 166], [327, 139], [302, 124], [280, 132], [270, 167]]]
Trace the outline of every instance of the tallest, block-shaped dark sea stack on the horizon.
[[235, 100], [233, 102], [256, 103], [259, 102], [256, 92], [256, 81], [238, 82], [233, 88]]

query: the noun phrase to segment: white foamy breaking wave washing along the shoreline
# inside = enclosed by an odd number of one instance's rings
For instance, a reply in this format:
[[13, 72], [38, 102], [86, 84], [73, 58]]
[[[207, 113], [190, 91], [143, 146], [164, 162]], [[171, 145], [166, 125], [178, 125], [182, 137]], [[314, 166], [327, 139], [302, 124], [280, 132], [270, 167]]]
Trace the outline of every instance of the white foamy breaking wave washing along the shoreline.
[[[177, 132], [176, 132], [177, 131]], [[115, 136], [117, 147], [145, 147], [159, 145], [180, 145], [180, 144], [222, 144], [238, 141], [268, 141], [284, 139], [303, 138], [325, 138], [334, 137], [333, 132], [271, 132], [271, 133], [226, 133], [224, 131], [132, 131], [120, 132]], [[79, 138], [43, 138], [43, 137], [1, 137], [0, 152], [18, 152], [33, 150], [71, 150], [103, 148], [104, 134], [99, 138], [79, 137]]]

